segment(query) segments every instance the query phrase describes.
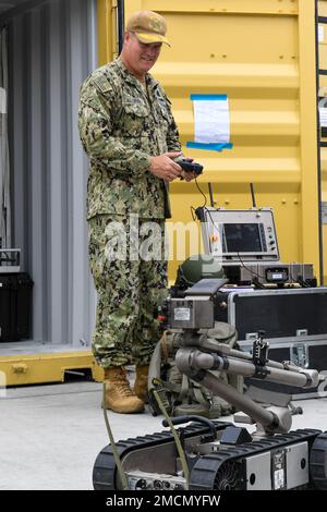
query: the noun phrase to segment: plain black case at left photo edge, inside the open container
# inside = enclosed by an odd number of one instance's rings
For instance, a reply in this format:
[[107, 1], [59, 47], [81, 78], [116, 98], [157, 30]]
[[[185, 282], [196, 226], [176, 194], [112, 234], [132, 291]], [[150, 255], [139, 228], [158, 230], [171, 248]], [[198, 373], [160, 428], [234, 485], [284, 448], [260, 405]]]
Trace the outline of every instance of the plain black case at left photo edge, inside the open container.
[[0, 341], [31, 338], [32, 288], [28, 273], [0, 273]]

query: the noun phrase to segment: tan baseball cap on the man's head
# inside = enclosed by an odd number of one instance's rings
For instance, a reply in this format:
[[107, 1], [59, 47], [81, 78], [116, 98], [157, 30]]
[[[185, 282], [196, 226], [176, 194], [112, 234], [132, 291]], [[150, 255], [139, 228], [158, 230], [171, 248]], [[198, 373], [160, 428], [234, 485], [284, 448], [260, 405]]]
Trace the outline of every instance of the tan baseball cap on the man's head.
[[167, 24], [165, 17], [153, 11], [135, 12], [128, 21], [126, 32], [133, 32], [142, 42], [165, 42], [170, 46], [166, 37]]

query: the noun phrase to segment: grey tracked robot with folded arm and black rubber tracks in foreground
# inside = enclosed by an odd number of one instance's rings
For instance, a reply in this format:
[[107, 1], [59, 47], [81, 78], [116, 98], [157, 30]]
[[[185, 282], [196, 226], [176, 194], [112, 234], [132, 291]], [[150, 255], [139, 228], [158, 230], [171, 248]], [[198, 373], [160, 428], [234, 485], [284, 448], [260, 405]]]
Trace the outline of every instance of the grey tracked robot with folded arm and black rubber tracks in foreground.
[[[299, 388], [315, 387], [319, 380], [317, 370], [268, 361], [262, 333], [252, 354], [210, 339], [210, 329], [217, 327], [215, 294], [225, 283], [203, 279], [183, 297], [168, 298], [162, 313], [167, 326], [180, 331], [180, 371], [233, 404], [242, 412], [237, 419], [256, 424], [255, 430], [198, 416], [166, 418], [162, 424], [170, 431], [119, 441], [117, 451], [112, 443], [105, 447], [94, 465], [95, 489], [327, 489], [327, 432], [290, 431], [298, 411], [288, 399], [264, 390], [241, 394], [215, 376], [219, 370]], [[157, 398], [158, 385], [149, 382]], [[174, 430], [172, 424], [185, 426]]]

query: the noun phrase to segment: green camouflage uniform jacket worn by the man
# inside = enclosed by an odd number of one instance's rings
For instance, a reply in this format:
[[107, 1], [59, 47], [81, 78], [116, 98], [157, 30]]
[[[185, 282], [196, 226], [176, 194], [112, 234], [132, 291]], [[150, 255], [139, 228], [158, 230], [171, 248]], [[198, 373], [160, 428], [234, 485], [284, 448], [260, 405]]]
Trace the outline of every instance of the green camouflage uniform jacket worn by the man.
[[81, 87], [78, 127], [90, 158], [87, 218], [98, 214], [170, 217], [168, 184], [149, 171], [150, 156], [180, 150], [162, 87], [146, 88], [120, 58], [94, 71]]

